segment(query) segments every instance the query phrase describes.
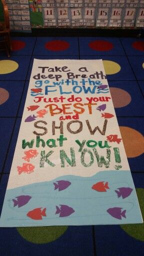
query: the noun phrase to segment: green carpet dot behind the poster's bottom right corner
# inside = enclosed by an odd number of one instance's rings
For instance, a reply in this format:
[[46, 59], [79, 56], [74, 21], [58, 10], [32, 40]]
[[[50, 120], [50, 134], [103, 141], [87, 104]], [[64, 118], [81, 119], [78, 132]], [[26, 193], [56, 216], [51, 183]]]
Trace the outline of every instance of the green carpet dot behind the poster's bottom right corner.
[[[142, 217], [144, 218], [144, 189], [136, 188], [136, 193], [142, 213]], [[120, 227], [130, 236], [140, 241], [144, 241], [144, 224], [126, 224], [120, 225]]]

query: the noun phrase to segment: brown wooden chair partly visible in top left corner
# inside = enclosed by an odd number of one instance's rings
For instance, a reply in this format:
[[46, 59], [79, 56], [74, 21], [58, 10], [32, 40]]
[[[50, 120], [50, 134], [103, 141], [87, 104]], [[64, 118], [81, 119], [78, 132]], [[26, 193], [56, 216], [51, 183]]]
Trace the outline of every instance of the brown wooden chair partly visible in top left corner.
[[10, 56], [11, 42], [10, 42], [10, 27], [9, 27], [9, 13], [4, 0], [1, 0], [3, 7], [4, 21], [0, 21], [0, 50], [6, 50], [8, 57]]

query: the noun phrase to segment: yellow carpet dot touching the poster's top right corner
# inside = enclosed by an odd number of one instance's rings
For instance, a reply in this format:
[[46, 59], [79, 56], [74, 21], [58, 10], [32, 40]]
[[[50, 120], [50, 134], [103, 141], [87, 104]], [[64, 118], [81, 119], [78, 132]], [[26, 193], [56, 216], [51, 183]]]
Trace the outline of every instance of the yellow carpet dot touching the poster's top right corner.
[[105, 74], [115, 74], [120, 71], [121, 67], [118, 63], [111, 60], [103, 60]]

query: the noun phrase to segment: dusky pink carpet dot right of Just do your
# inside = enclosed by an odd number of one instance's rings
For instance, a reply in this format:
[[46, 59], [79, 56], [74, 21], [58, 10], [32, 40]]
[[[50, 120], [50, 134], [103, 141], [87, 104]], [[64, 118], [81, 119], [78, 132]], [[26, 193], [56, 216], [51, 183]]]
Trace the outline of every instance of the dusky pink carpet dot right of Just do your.
[[110, 90], [112, 102], [115, 108], [126, 106], [130, 103], [131, 96], [126, 90], [116, 88], [116, 87], [110, 87], [109, 90]]

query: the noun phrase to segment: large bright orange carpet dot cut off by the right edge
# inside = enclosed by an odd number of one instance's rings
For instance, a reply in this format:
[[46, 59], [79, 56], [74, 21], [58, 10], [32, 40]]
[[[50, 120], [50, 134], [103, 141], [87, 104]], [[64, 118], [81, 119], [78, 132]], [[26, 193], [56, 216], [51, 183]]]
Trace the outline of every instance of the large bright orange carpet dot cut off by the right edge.
[[136, 157], [144, 151], [144, 137], [142, 134], [130, 127], [119, 126], [121, 137], [127, 157]]

